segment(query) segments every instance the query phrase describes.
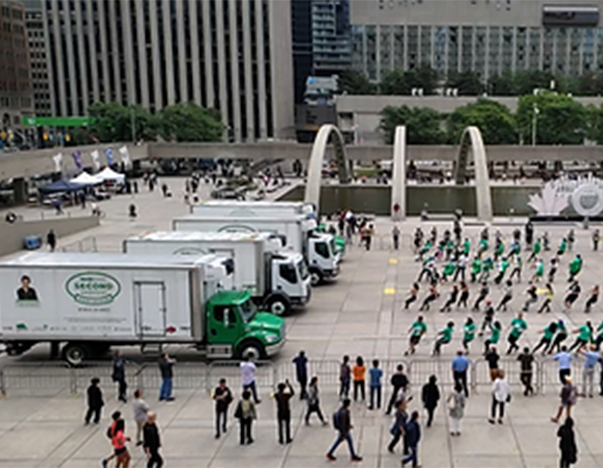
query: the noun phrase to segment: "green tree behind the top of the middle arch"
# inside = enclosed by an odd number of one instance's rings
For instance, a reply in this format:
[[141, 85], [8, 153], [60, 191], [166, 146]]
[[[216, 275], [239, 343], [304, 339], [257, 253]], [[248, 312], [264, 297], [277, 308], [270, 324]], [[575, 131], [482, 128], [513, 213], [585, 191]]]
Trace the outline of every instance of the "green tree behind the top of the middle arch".
[[406, 125], [406, 141], [410, 145], [439, 145], [446, 141], [440, 128], [442, 116], [426, 107], [387, 106], [381, 111], [379, 131], [386, 144], [394, 142], [398, 125]]

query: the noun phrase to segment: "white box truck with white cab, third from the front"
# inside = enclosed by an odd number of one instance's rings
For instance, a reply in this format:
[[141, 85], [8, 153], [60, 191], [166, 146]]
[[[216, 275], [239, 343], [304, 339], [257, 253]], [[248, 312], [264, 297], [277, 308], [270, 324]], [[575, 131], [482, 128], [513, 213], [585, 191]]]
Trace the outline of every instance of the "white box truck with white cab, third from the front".
[[314, 232], [316, 221], [303, 215], [282, 217], [188, 215], [172, 221], [174, 231], [268, 232], [284, 236], [286, 247], [304, 255], [312, 286], [339, 274], [340, 255], [333, 236]]

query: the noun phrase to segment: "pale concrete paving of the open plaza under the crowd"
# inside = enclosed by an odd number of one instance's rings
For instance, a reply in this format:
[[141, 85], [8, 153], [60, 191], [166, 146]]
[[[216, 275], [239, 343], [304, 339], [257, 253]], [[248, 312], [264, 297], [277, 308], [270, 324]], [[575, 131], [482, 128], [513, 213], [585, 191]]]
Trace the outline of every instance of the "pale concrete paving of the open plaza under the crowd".
[[[174, 184], [182, 184], [176, 179]], [[176, 186], [176, 185], [175, 185]], [[176, 189], [173, 189], [176, 191]], [[101, 251], [118, 251], [121, 240], [127, 235], [138, 234], [145, 230], [169, 229], [172, 217], [185, 214], [187, 207], [177, 195], [164, 199], [159, 192], [149, 194], [143, 192], [136, 196], [139, 217], [129, 221], [127, 205], [129, 197], [116, 197], [101, 205], [106, 212], [102, 225], [90, 232], [81, 233], [67, 239], [60, 239], [60, 245], [82, 245], [96, 239], [97, 248]], [[509, 220], [498, 220], [500, 229], [508, 238], [515, 227]], [[443, 232], [450, 223], [435, 223], [438, 231]], [[417, 220], [409, 220], [401, 224], [403, 245], [399, 251], [391, 249], [389, 232], [391, 222], [387, 219], [376, 220], [378, 237], [374, 241], [374, 249], [367, 252], [357, 245], [350, 246], [342, 263], [342, 273], [332, 284], [315, 288], [311, 303], [304, 309], [295, 311], [287, 317], [288, 343], [275, 358], [276, 365], [289, 366], [291, 358], [300, 349], [306, 350], [311, 360], [336, 361], [343, 354], [352, 359], [357, 355], [371, 361], [378, 358], [384, 362], [395, 363], [407, 361], [403, 351], [407, 346], [407, 329], [418, 315], [418, 304], [410, 311], [403, 311], [402, 304], [407, 296], [410, 283], [416, 278], [419, 264], [414, 261], [410, 251], [410, 235], [419, 225]], [[431, 228], [432, 223], [423, 223], [424, 230]], [[498, 226], [491, 228], [491, 234]], [[577, 234], [575, 250], [585, 257], [584, 271], [580, 275], [583, 292], [574, 310], [565, 313], [562, 310], [563, 292], [567, 288], [567, 265], [570, 254], [562, 259], [560, 271], [554, 288], [556, 291], [553, 312], [536, 314], [535, 307], [527, 314], [528, 331], [520, 341], [520, 345], [533, 346], [539, 339], [541, 330], [549, 321], [564, 318], [570, 330], [577, 328], [588, 318], [596, 326], [603, 315], [601, 304], [594, 307], [587, 316], [582, 312], [588, 289], [602, 278], [601, 253], [593, 253], [590, 245], [590, 231], [573, 226]], [[569, 230], [569, 226], [547, 227], [551, 236], [551, 246], [556, 250], [560, 238]], [[481, 227], [469, 226], [467, 234], [475, 238]], [[536, 234], [545, 228], [536, 228]], [[357, 240], [355, 241], [357, 243]], [[74, 244], [75, 243], [75, 244]], [[474, 242], [476, 244], [476, 242]], [[548, 263], [549, 253], [543, 255]], [[527, 255], [524, 254], [524, 261]], [[524, 277], [530, 272], [524, 267]], [[526, 280], [515, 286], [515, 298], [509, 312], [498, 313], [497, 319], [506, 327], [526, 296]], [[425, 297], [426, 284], [421, 286], [419, 301]], [[438, 373], [442, 385], [440, 390], [445, 396], [450, 388], [449, 363], [454, 352], [460, 347], [461, 324], [470, 312], [453, 310], [451, 313], [439, 313], [438, 309], [445, 301], [450, 286], [440, 287], [441, 297], [425, 312], [428, 333], [417, 351], [416, 359], [426, 364], [423, 371], [412, 375], [420, 375], [413, 382], [415, 396], [410, 404], [411, 410], [420, 410], [420, 386], [433, 370]], [[502, 288], [491, 285], [492, 299], [496, 304], [502, 296]], [[476, 287], [472, 286], [470, 300], [474, 298]], [[478, 325], [481, 314], [472, 314]], [[429, 357], [436, 332], [445, 322], [455, 322], [453, 344], [443, 349], [442, 357]], [[503, 337], [501, 344], [506, 343]], [[568, 342], [575, 335], [572, 335]], [[503, 347], [503, 346], [501, 346]], [[193, 360], [191, 351], [174, 348], [170, 352], [178, 355], [180, 361]], [[482, 341], [473, 343], [471, 358], [479, 359]], [[135, 353], [135, 350], [128, 350]], [[46, 359], [39, 350], [34, 349], [25, 356], [2, 357], [2, 363], [19, 366], [22, 362], [35, 359]], [[546, 395], [525, 398], [515, 385], [516, 375], [511, 375], [513, 383], [513, 400], [508, 408], [508, 417], [503, 426], [491, 426], [487, 423], [490, 395], [486, 381], [478, 387], [469, 401], [466, 417], [463, 420], [461, 437], [448, 435], [448, 418], [446, 407], [441, 402], [432, 428], [423, 427], [423, 439], [419, 453], [423, 467], [491, 468], [524, 467], [553, 468], [558, 465], [558, 440], [555, 436], [556, 425], [549, 421], [558, 404], [558, 386], [554, 381], [556, 372], [554, 363], [548, 362]], [[109, 362], [107, 362], [107, 366]], [[506, 364], [505, 364], [506, 365]], [[479, 363], [483, 371], [483, 362]], [[419, 366], [420, 367], [420, 366]], [[579, 368], [579, 364], [577, 369]], [[183, 372], [181, 367], [180, 372]], [[509, 367], [509, 373], [516, 367]], [[328, 466], [324, 454], [334, 440], [335, 433], [330, 427], [321, 427], [313, 420], [311, 427], [303, 424], [303, 403], [297, 398], [293, 402], [293, 436], [291, 445], [280, 446], [276, 442], [276, 421], [274, 402], [269, 398], [270, 389], [261, 388], [263, 402], [259, 406], [259, 419], [254, 426], [256, 442], [251, 446], [238, 445], [238, 428], [231, 424], [228, 434], [220, 440], [214, 439], [213, 405], [205, 388], [178, 388], [178, 366], [175, 368], [176, 401], [158, 403], [155, 390], [148, 390], [147, 400], [153, 410], [158, 413], [159, 424], [164, 440], [164, 456], [167, 467], [211, 467], [228, 468], [246, 463], [252, 467], [308, 467]], [[480, 374], [481, 375], [481, 374]], [[481, 377], [480, 377], [481, 378]], [[389, 386], [384, 378], [384, 400], [389, 397]], [[577, 377], [576, 380], [580, 380]], [[233, 381], [233, 390], [239, 392]], [[83, 397], [72, 397], [67, 392], [59, 392], [51, 398], [22, 397], [10, 395], [0, 401], [0, 467], [33, 468], [33, 467], [93, 467], [100, 464], [102, 456], [110, 453], [109, 440], [105, 436], [109, 414], [117, 408], [124, 412], [128, 433], [133, 435], [130, 405], [121, 405], [115, 401], [115, 389], [104, 386], [107, 406], [101, 424], [83, 426]], [[132, 389], [132, 388], [131, 388]], [[133, 389], [132, 389], [133, 390]], [[337, 389], [331, 382], [321, 386], [323, 413], [330, 422], [331, 415], [337, 407]], [[368, 390], [368, 389], [367, 389]], [[367, 392], [368, 395], [368, 392]], [[232, 414], [232, 411], [231, 411]], [[422, 422], [424, 423], [424, 415]], [[353, 405], [354, 423], [353, 437], [358, 451], [365, 457], [357, 466], [388, 468], [400, 466], [400, 454], [391, 455], [386, 450], [390, 438], [391, 419], [383, 416], [383, 411], [369, 411], [365, 404]], [[601, 399], [580, 399], [575, 410], [576, 433], [579, 449], [578, 467], [603, 467], [603, 432], [600, 430], [603, 418]], [[231, 423], [232, 416], [230, 417]], [[144, 459], [136, 447], [131, 447], [135, 467], [145, 466]], [[351, 464], [347, 455], [347, 447], [338, 451], [338, 460], [333, 466]]]

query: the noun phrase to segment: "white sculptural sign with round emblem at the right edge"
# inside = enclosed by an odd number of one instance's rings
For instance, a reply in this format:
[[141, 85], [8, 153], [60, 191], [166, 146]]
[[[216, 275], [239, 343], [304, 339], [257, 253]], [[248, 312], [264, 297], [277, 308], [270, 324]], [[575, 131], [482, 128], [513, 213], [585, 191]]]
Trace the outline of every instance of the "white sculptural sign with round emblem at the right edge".
[[592, 174], [576, 179], [562, 177], [547, 182], [540, 194], [530, 195], [528, 202], [542, 216], [558, 216], [570, 204], [581, 216], [599, 215], [603, 212], [603, 180]]

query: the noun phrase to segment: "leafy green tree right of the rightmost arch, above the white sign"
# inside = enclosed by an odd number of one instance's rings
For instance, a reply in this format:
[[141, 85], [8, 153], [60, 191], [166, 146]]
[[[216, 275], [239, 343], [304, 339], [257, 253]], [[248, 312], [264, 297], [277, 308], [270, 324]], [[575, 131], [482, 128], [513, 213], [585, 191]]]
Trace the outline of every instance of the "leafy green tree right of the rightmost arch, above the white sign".
[[532, 141], [545, 145], [579, 145], [588, 131], [588, 112], [571, 96], [548, 91], [519, 98], [517, 127], [524, 143]]

